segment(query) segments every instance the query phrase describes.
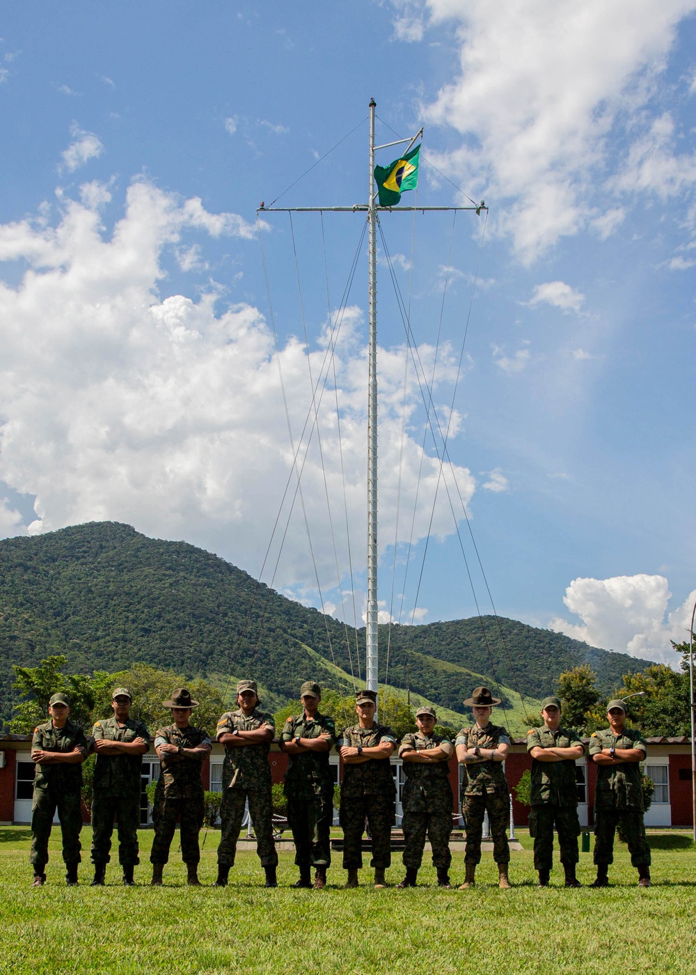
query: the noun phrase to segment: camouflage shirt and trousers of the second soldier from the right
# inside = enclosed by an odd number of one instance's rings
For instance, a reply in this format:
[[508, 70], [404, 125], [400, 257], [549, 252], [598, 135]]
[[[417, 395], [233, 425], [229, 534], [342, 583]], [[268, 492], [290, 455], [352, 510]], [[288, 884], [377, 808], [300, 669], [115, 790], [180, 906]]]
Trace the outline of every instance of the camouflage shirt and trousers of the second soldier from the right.
[[[544, 725], [527, 731], [527, 753], [533, 748], [576, 748], [578, 745], [584, 752], [582, 741], [568, 728], [558, 727], [552, 731]], [[534, 840], [534, 870], [550, 871], [553, 866], [554, 825], [559, 834], [561, 863], [576, 864], [580, 859], [580, 820], [575, 760], [532, 759], [529, 836]]]

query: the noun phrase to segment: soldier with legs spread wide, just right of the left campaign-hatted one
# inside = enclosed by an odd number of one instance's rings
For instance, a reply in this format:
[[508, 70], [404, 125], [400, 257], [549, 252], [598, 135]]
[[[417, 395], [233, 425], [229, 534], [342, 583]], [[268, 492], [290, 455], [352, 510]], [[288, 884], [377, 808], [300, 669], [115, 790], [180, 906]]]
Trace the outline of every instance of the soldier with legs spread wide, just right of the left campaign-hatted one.
[[234, 866], [237, 840], [242, 829], [245, 803], [256, 835], [256, 853], [266, 875], [266, 886], [276, 887], [278, 853], [273, 840], [273, 798], [270, 744], [276, 733], [273, 715], [258, 710], [255, 681], [237, 684], [237, 711], [226, 712], [217, 722], [217, 741], [225, 746], [222, 766], [222, 836], [217, 847], [217, 879], [224, 887]]

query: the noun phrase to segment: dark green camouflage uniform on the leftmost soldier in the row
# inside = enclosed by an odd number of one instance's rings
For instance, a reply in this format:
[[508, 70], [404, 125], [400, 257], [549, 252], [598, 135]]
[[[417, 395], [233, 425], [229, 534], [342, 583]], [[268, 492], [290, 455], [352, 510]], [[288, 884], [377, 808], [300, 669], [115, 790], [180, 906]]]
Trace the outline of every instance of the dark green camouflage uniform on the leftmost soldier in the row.
[[[88, 752], [85, 732], [69, 719], [61, 728], [45, 722], [34, 729], [31, 749], [42, 752]], [[34, 772], [34, 795], [31, 802], [31, 853], [34, 874], [43, 874], [49, 862], [49, 837], [58, 809], [62, 834], [62, 858], [68, 870], [77, 868], [82, 859], [80, 832], [82, 830], [82, 765], [45, 764], [37, 762]]]

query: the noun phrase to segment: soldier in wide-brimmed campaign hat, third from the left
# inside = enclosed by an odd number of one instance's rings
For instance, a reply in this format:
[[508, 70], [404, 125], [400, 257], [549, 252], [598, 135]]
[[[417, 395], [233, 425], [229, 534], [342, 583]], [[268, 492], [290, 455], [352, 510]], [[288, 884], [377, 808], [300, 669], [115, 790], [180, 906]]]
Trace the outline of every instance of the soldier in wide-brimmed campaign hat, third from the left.
[[162, 703], [165, 708], [172, 709], [174, 724], [155, 732], [155, 751], [162, 762], [162, 773], [157, 781], [152, 809], [155, 824], [150, 853], [152, 886], [162, 886], [162, 872], [170, 858], [177, 819], [181, 826], [181, 859], [186, 864], [186, 882], [199, 886], [201, 849], [198, 835], [205, 811], [201, 768], [213, 745], [207, 731], [190, 723], [198, 701], [191, 699], [189, 690], [177, 687], [172, 700]]

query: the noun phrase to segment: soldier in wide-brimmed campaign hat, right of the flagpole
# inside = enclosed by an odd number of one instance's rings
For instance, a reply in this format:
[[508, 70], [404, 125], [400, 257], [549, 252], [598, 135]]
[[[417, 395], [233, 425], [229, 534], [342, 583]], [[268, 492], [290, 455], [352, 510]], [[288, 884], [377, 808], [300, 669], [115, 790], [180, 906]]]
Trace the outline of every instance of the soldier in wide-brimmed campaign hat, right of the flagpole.
[[477, 687], [464, 704], [474, 711], [476, 723], [462, 728], [454, 742], [465, 777], [462, 816], [466, 829], [466, 877], [459, 889], [474, 886], [476, 866], [481, 863], [483, 816], [487, 812], [493, 859], [498, 865], [498, 885], [507, 890], [510, 887], [510, 846], [506, 833], [510, 822], [510, 790], [502, 763], [510, 748], [510, 735], [505, 728], [490, 723], [492, 709], [500, 704], [500, 698], [493, 697], [487, 687]]

